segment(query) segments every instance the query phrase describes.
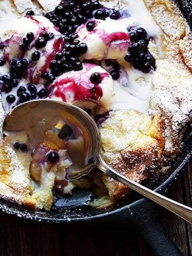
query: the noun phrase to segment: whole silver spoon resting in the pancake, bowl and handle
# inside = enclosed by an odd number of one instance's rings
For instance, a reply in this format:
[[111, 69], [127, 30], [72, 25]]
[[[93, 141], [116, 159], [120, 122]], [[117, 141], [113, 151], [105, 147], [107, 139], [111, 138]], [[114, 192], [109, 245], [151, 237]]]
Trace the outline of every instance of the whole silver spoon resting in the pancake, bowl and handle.
[[[9, 112], [2, 126], [3, 135], [9, 131], [21, 130], [25, 130], [29, 135], [31, 151], [40, 140], [47, 139], [48, 130], [53, 134], [58, 132], [61, 140], [63, 134], [66, 136], [65, 146], [73, 163], [69, 170], [69, 179], [79, 179], [87, 175], [93, 167], [97, 167], [111, 178], [129, 186], [192, 224], [192, 208], [126, 178], [105, 163], [99, 147], [99, 130], [92, 118], [79, 107], [53, 100], [26, 102]], [[70, 132], [72, 132], [71, 135]]]

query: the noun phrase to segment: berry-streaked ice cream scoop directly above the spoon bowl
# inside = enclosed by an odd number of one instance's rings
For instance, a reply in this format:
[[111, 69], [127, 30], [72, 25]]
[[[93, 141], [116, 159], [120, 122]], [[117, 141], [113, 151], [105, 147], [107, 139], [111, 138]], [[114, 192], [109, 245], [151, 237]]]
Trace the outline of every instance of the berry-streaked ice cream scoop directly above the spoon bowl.
[[[91, 82], [92, 73], [99, 73], [101, 80], [95, 84]], [[62, 100], [82, 107], [83, 109], [97, 109], [104, 113], [110, 110], [114, 83], [104, 68], [92, 63], [83, 63], [81, 71], [63, 73], [51, 85], [50, 98]]]

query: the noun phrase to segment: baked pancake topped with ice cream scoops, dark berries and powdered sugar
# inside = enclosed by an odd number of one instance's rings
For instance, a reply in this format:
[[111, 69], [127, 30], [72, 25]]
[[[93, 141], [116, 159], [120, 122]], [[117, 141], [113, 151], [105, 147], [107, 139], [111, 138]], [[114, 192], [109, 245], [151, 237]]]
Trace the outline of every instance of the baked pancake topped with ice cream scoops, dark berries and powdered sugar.
[[[23, 102], [68, 102], [95, 120], [116, 171], [147, 184], [169, 168], [192, 119], [191, 32], [173, 1], [4, 0], [0, 26], [1, 124]], [[96, 208], [129, 200], [98, 170], [68, 179], [68, 149], [78, 154], [83, 136], [58, 127], [37, 143], [25, 130], [1, 135], [1, 197], [36, 210], [75, 187], [91, 189]]]

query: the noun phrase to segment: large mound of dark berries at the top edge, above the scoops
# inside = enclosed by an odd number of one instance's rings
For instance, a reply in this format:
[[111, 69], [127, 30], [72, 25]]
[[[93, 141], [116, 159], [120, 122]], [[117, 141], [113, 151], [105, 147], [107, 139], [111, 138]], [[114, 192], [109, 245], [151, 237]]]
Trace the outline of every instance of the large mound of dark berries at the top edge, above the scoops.
[[87, 19], [118, 19], [120, 13], [115, 9], [106, 9], [99, 1], [66, 0], [61, 2], [55, 11], [46, 14], [46, 17], [58, 27], [66, 37], [76, 31]]

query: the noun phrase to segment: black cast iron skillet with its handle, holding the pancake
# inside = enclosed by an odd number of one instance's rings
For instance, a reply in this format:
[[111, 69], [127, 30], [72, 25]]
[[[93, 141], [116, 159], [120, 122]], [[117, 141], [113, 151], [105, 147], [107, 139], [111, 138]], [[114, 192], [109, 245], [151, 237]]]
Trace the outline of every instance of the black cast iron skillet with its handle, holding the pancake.
[[[188, 20], [192, 28], [192, 3], [190, 0], [176, 0], [181, 12]], [[156, 188], [164, 194], [169, 186], [181, 173], [192, 155], [192, 131], [188, 130], [184, 137], [184, 147], [181, 154], [171, 163], [169, 174], [159, 181]], [[156, 185], [157, 186], [157, 185]], [[87, 190], [75, 190], [70, 198], [57, 196], [50, 212], [31, 211], [12, 204], [3, 199], [0, 200], [0, 209], [6, 213], [17, 215], [25, 219], [67, 222], [67, 221], [105, 221], [127, 225], [132, 228], [146, 241], [154, 255], [181, 255], [169, 235], [161, 219], [160, 206], [148, 199], [139, 199], [129, 205], [117, 205], [105, 210], [95, 210], [88, 206], [88, 201], [93, 194]], [[138, 196], [137, 196], [138, 199]]]

